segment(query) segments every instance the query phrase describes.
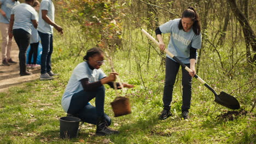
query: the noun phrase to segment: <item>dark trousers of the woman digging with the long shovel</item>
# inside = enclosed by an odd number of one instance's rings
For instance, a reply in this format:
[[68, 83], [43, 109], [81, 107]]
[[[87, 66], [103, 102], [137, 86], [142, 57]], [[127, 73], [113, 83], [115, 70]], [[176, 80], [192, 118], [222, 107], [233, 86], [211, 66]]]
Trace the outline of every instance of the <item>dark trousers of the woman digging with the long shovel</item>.
[[[172, 101], [172, 91], [173, 85], [176, 80], [176, 75], [179, 70], [179, 63], [174, 62], [172, 59], [166, 57], [166, 70], [165, 70], [165, 87], [164, 87], [164, 96], [162, 97], [162, 101], [164, 102], [164, 109], [171, 109], [171, 101]], [[190, 64], [185, 64], [187, 67], [190, 67]], [[192, 85], [192, 77], [189, 75], [188, 71], [182, 67], [182, 112], [189, 111], [190, 102], [191, 102], [191, 85]]]

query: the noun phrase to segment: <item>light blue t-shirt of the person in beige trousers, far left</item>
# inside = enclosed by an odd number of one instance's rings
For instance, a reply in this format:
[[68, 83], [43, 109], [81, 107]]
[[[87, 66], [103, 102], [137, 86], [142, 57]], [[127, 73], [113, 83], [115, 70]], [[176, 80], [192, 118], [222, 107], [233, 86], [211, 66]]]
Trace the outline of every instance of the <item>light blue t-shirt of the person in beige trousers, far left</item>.
[[2, 14], [0, 14], [0, 22], [1, 23], [8, 23], [10, 21], [10, 14], [11, 14], [11, 9], [13, 9], [13, 7], [15, 5], [20, 4], [19, 1], [17, 2], [13, 2], [13, 0], [0, 0], [1, 3], [1, 9], [5, 12], [6, 17], [4, 17]]

